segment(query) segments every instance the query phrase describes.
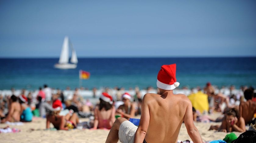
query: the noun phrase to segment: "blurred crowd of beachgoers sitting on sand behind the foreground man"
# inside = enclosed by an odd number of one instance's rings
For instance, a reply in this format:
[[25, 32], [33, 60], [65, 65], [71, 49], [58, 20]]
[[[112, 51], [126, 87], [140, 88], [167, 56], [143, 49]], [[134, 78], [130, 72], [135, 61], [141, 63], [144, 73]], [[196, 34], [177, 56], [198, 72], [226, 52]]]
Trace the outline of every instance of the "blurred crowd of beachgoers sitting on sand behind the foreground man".
[[[151, 87], [150, 87], [151, 88]], [[202, 90], [208, 95], [209, 110], [208, 114], [213, 112], [223, 113], [222, 117], [209, 119], [208, 121], [222, 122], [221, 125], [212, 125], [210, 130], [224, 132], [244, 132], [245, 125], [255, 124], [256, 115], [256, 95], [254, 88], [243, 87], [239, 94], [232, 94], [233, 86], [230, 87], [230, 95], [224, 95], [221, 90], [207, 83]], [[76, 88], [73, 95], [64, 96], [61, 90], [53, 94], [52, 89], [47, 85], [38, 90], [36, 101], [31, 96], [31, 92], [25, 95], [22, 90], [20, 95], [3, 96], [0, 95], [0, 117], [1, 123], [9, 122], [29, 122], [33, 116], [47, 118], [46, 127], [50, 123], [56, 129], [76, 128], [79, 124], [79, 117], [90, 117], [91, 129], [106, 128], [110, 129], [116, 118], [123, 117], [126, 119], [134, 118], [141, 113], [141, 96], [140, 90], [135, 88], [135, 95], [131, 95], [125, 90], [116, 88], [116, 94], [111, 95], [109, 88], [100, 95], [96, 105], [92, 104], [89, 99], [84, 99], [79, 95], [79, 89]], [[198, 90], [200, 90], [198, 88]], [[97, 89], [93, 89], [96, 98]], [[150, 91], [150, 90], [148, 90]], [[159, 91], [158, 91], [159, 92]], [[35, 103], [35, 106], [34, 104]], [[57, 108], [58, 107], [58, 108]], [[66, 110], [66, 111], [65, 111]], [[255, 114], [254, 114], [255, 113]], [[205, 121], [204, 115], [200, 115], [197, 109], [193, 107], [194, 121]], [[254, 119], [254, 120], [253, 120]]]

